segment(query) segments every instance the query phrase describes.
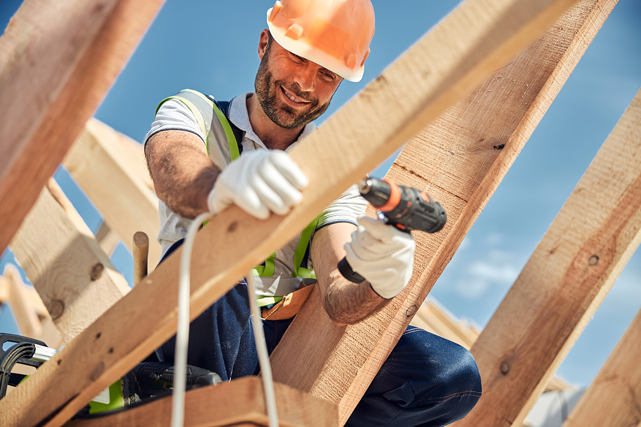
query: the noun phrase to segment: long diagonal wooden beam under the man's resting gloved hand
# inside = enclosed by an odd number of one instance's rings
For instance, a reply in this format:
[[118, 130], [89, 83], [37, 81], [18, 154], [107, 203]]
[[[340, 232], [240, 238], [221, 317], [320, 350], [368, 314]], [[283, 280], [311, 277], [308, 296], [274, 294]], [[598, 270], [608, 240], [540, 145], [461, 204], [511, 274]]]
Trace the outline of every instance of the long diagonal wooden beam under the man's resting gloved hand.
[[[287, 216], [237, 207], [196, 238], [192, 319], [409, 137], [542, 32], [570, 0], [468, 0], [292, 150], [310, 185]], [[313, 160], [313, 163], [312, 163]], [[212, 242], [215, 242], [212, 243]], [[60, 426], [176, 331], [181, 250], [0, 401], [0, 426]], [[135, 326], [135, 327], [132, 327]], [[308, 338], [308, 337], [307, 337]], [[82, 361], [82, 362], [79, 362]], [[55, 383], [53, 390], [47, 385]]]

